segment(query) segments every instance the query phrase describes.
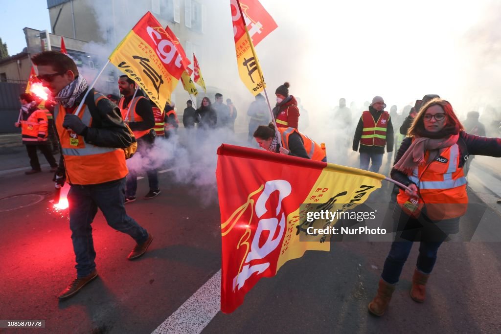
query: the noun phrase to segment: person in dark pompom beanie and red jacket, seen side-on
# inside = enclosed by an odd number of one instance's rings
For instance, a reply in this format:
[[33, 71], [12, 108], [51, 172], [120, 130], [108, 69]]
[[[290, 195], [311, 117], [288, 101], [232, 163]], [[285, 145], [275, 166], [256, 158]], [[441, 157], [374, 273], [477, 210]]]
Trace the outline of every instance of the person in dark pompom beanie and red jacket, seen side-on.
[[298, 128], [299, 108], [294, 96], [289, 95], [289, 83], [280, 85], [275, 91], [277, 105], [273, 108], [273, 115], [278, 128]]

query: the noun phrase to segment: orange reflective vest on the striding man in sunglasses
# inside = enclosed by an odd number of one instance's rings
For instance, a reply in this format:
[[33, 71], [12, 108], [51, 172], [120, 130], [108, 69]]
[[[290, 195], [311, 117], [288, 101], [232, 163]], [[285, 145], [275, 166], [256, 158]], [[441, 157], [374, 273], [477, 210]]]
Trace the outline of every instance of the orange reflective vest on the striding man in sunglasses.
[[[106, 97], [94, 93], [96, 105], [101, 99]], [[66, 114], [67, 110], [63, 106], [55, 109], [56, 129], [61, 142], [68, 182], [78, 185], [100, 184], [125, 177], [128, 170], [124, 151], [86, 143], [83, 136], [77, 135], [71, 129], [63, 128]], [[83, 105], [78, 117], [86, 126], [92, 125], [92, 116], [87, 105]]]

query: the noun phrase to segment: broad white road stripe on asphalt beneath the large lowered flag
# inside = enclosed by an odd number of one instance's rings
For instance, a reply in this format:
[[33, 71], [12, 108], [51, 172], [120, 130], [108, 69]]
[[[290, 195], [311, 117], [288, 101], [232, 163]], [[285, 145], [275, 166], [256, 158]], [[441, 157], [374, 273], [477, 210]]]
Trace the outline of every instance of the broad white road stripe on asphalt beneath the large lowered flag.
[[220, 297], [221, 270], [219, 269], [152, 334], [200, 333], [221, 309]]

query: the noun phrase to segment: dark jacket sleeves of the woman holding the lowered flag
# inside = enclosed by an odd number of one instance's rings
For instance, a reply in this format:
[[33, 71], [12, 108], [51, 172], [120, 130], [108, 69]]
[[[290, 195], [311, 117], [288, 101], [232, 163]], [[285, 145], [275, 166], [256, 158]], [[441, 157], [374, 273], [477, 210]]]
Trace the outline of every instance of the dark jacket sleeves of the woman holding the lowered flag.
[[[400, 160], [411, 143], [412, 138], [405, 138], [402, 141], [402, 145], [400, 145], [400, 148], [398, 149], [393, 165], [395, 165]], [[475, 136], [461, 131], [459, 133], [457, 145], [459, 146], [460, 157], [469, 156], [470, 154], [486, 155], [497, 158], [501, 157], [501, 138]], [[464, 159], [459, 159], [459, 168], [463, 167], [464, 161]], [[408, 186], [411, 183], [407, 175], [396, 170], [395, 168], [391, 170], [391, 178], [397, 182], [402, 183], [405, 186]]]

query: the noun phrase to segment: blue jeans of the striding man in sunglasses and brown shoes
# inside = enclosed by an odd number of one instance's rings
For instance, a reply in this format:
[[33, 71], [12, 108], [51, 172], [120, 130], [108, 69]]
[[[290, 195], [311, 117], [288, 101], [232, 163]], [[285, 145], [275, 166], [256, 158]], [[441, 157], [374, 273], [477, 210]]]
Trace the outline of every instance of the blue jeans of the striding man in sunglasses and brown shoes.
[[72, 185], [70, 202], [70, 229], [77, 265], [77, 276], [87, 276], [94, 270], [96, 251], [92, 240], [91, 223], [97, 209], [114, 229], [129, 234], [137, 243], [148, 239], [148, 232], [125, 212], [125, 178], [95, 185]]

